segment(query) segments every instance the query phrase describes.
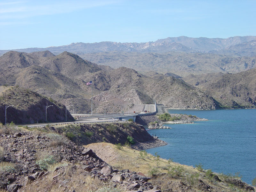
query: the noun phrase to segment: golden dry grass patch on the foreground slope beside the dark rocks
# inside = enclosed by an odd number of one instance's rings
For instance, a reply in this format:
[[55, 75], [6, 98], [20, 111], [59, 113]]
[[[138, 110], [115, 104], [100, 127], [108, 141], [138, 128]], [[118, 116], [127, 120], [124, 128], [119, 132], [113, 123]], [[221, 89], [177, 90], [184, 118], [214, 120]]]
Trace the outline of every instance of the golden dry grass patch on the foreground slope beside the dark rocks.
[[140, 151], [129, 147], [123, 146], [120, 150], [115, 145], [105, 142], [92, 143], [84, 147], [91, 148], [103, 161], [119, 170], [129, 169], [131, 172], [142, 172], [150, 176], [150, 173], [148, 173], [150, 168], [157, 168], [158, 172], [167, 173], [170, 167], [179, 165], [184, 172], [197, 172], [193, 167], [157, 158], [151, 154], [142, 156]]

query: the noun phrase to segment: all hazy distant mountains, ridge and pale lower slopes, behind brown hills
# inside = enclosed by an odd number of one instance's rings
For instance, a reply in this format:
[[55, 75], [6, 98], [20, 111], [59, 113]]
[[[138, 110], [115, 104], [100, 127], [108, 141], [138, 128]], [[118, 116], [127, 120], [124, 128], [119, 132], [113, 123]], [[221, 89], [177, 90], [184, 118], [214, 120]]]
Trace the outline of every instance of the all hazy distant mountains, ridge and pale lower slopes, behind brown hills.
[[[9, 50], [0, 50], [0, 55]], [[212, 72], [238, 73], [256, 67], [256, 36], [222, 38], [168, 37], [147, 43], [72, 43], [58, 47], [27, 48], [17, 52], [71, 52], [84, 60], [112, 68], [128, 67], [140, 73], [179, 76]]]

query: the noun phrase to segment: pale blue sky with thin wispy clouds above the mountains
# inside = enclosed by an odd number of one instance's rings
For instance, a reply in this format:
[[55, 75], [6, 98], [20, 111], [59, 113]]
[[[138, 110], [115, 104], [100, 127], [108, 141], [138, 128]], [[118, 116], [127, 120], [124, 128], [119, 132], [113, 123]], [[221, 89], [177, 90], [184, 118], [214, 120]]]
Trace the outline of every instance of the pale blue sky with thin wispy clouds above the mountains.
[[255, 0], [0, 0], [0, 50], [256, 36]]

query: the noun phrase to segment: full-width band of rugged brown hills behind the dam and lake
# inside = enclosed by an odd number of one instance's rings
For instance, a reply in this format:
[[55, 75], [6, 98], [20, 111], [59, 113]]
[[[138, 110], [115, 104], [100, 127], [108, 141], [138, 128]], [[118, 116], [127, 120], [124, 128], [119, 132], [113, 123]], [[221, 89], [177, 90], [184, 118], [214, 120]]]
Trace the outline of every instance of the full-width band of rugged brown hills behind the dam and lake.
[[[248, 66], [253, 68], [254, 64]], [[126, 67], [97, 65], [70, 52], [55, 56], [49, 51], [10, 51], [0, 57], [0, 85], [36, 91], [66, 106], [73, 105], [80, 113], [90, 109], [92, 88], [94, 113], [104, 112], [105, 107], [110, 113], [112, 107], [116, 111], [133, 111], [134, 106], [153, 103], [153, 99], [170, 108], [254, 108], [255, 69], [245, 72], [190, 75], [183, 78], [188, 84], [171, 72], [163, 75], [151, 71], [143, 75]], [[88, 81], [93, 84], [86, 85]]]

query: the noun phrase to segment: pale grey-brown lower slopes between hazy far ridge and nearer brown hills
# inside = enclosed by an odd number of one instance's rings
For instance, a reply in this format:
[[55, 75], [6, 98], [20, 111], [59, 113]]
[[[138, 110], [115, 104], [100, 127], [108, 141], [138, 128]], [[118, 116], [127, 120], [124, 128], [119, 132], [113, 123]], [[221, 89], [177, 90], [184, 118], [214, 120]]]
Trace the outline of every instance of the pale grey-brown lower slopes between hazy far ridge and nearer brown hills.
[[80, 54], [80, 57], [112, 68], [128, 67], [140, 73], [172, 72], [179, 76], [210, 72], [237, 73], [255, 68], [255, 54], [237, 55], [186, 52], [99, 52]]

